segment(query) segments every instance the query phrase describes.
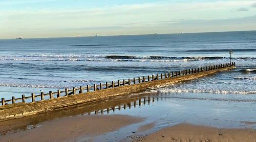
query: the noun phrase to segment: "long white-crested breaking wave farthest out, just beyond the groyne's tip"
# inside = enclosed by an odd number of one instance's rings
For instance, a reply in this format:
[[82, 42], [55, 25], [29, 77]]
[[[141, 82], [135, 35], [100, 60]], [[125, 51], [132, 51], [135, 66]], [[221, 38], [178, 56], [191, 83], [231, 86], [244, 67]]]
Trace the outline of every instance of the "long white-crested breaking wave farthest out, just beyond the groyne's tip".
[[[176, 62], [228, 59], [228, 57], [168, 57], [168, 56], [130, 56], [130, 55], [24, 55], [14, 57], [0, 57], [7, 61], [135, 61], [135, 62]], [[253, 57], [239, 57], [233, 59], [254, 60]]]

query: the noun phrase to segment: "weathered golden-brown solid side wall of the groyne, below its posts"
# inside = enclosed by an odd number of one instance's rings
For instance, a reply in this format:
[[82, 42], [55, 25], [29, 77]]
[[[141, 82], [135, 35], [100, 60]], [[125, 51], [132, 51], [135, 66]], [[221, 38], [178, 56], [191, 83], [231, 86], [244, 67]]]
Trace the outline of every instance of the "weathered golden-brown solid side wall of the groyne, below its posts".
[[73, 96], [62, 97], [62, 98], [55, 98], [51, 100], [44, 100], [35, 103], [16, 103], [12, 105], [6, 105], [0, 107], [0, 121], [14, 119], [18, 117], [23, 117], [27, 115], [33, 115], [37, 113], [63, 109], [72, 105], [81, 104], [81, 103], [88, 103], [88, 102], [97, 102], [103, 99], [108, 99], [110, 97], [119, 96], [122, 94], [130, 94], [135, 92], [141, 92], [146, 90], [149, 87], [154, 87], [158, 85], [164, 84], [174, 84], [182, 81], [192, 80], [196, 78], [201, 78], [210, 74], [214, 74], [216, 72], [220, 72], [222, 70], [228, 70], [232, 67], [220, 68], [215, 70], [208, 70], [206, 72], [196, 73], [196, 74], [189, 74], [185, 76], [179, 76], [174, 78], [167, 78], [163, 80], [156, 80], [150, 82], [144, 82], [140, 84], [132, 84], [126, 86], [120, 86], [116, 88], [109, 88], [98, 90], [94, 92], [86, 92], [80, 93]]

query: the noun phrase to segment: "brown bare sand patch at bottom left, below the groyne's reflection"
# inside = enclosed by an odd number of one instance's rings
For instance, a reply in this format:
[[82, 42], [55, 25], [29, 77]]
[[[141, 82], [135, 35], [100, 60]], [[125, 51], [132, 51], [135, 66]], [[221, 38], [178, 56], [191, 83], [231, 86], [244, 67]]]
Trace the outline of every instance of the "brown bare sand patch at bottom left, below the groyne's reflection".
[[[0, 135], [0, 141], [84, 141], [142, 121], [141, 118], [127, 115], [62, 117], [61, 119], [38, 123], [25, 131]], [[7, 121], [1, 125], [0, 131], [3, 132], [15, 127], [17, 123], [12, 124]]]

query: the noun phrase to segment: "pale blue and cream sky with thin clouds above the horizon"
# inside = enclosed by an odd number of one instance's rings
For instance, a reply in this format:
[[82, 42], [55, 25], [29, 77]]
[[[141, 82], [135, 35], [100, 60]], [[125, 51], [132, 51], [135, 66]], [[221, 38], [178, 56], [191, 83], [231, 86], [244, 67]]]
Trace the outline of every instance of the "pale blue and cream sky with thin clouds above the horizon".
[[256, 30], [256, 0], [0, 0], [0, 39]]

